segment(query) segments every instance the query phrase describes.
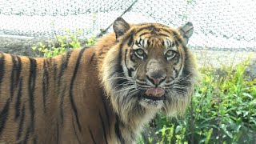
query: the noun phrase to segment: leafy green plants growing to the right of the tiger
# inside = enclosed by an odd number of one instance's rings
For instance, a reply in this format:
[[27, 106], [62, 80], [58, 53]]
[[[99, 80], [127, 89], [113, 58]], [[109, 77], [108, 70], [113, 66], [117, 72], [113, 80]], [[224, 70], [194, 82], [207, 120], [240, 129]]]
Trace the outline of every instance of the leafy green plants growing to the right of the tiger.
[[[256, 79], [244, 78], [246, 62], [237, 66], [202, 67], [202, 82], [182, 118], [158, 114], [150, 137], [162, 143], [254, 143]], [[156, 136], [154, 136], [154, 134]], [[146, 143], [146, 141], [144, 140]]]

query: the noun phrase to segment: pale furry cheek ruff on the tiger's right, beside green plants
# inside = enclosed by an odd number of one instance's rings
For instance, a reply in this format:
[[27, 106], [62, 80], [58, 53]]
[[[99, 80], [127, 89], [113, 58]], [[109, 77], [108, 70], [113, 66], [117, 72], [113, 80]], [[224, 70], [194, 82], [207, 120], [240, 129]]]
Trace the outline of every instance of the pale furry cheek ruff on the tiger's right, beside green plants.
[[185, 50], [183, 53], [184, 59], [182, 60], [182, 66], [178, 77], [174, 78], [175, 84], [186, 86], [186, 89], [182, 90], [170, 90], [168, 94], [170, 97], [166, 97], [163, 112], [167, 116], [176, 117], [185, 113], [186, 107], [191, 101], [191, 97], [194, 90], [194, 84], [197, 84], [198, 72], [195, 65], [194, 56], [190, 51]]

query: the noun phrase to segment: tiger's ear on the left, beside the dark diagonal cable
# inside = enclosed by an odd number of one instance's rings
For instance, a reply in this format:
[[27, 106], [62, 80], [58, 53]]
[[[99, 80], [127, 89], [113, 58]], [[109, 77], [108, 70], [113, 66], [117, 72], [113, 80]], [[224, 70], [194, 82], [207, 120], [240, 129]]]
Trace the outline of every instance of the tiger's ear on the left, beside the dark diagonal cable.
[[130, 29], [130, 25], [123, 18], [118, 17], [113, 23], [113, 29], [116, 38], [119, 38]]

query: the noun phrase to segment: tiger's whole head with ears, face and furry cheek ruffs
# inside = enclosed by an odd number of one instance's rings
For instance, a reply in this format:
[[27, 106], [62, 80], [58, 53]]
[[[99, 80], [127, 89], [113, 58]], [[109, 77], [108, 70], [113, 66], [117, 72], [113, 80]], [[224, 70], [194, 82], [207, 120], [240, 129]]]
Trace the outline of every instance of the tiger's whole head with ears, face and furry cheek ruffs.
[[177, 30], [158, 23], [114, 21], [116, 44], [102, 64], [102, 85], [114, 110], [126, 122], [136, 116], [152, 118], [160, 110], [182, 113], [190, 102], [196, 74], [187, 49], [193, 25]]

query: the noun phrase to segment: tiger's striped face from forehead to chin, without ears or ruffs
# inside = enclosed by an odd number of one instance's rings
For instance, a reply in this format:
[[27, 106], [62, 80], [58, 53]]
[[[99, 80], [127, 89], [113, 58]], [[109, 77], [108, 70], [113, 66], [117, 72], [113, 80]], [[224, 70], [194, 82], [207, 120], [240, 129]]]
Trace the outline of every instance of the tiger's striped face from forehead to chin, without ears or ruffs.
[[122, 68], [126, 78], [130, 78], [127, 88], [134, 87], [139, 104], [161, 108], [178, 86], [184, 50], [167, 32], [158, 32], [157, 26], [149, 27], [150, 30], [134, 35], [130, 46], [127, 44]]

